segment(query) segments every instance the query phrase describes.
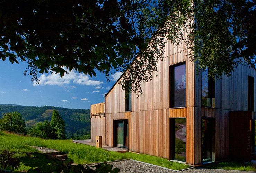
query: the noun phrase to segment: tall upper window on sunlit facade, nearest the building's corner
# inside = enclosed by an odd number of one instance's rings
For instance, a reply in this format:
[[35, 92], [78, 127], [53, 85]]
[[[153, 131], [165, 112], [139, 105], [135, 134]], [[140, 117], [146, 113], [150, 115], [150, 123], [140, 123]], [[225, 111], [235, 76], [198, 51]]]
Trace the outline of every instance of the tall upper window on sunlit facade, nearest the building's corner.
[[186, 107], [186, 64], [169, 67], [170, 108]]

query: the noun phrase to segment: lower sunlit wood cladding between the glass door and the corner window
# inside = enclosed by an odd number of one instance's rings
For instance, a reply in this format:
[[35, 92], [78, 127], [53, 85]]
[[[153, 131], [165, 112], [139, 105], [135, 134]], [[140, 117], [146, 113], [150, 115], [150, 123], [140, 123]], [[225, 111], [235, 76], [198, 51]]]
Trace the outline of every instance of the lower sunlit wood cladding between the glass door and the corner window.
[[169, 158], [169, 111], [132, 112], [129, 118], [129, 150]]

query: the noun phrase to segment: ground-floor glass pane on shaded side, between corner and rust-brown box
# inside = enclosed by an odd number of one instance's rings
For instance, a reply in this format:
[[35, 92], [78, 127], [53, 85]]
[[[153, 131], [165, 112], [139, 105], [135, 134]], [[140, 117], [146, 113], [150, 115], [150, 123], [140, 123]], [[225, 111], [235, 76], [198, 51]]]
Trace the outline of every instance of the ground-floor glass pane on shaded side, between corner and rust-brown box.
[[214, 118], [202, 118], [202, 162], [214, 161], [215, 122]]

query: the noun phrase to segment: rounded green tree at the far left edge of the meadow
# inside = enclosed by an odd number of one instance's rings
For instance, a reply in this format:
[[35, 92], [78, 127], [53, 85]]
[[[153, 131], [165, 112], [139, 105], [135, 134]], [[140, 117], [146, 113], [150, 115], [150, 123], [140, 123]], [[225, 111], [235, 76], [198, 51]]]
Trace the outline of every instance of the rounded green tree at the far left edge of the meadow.
[[0, 119], [0, 130], [26, 134], [25, 122], [18, 112], [5, 113]]

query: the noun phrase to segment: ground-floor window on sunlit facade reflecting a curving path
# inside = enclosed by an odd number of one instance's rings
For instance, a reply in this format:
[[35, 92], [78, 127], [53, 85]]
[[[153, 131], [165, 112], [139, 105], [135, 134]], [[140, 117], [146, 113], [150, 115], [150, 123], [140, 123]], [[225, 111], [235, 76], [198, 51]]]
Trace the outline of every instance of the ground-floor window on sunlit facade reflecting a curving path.
[[186, 118], [170, 118], [170, 160], [186, 162]]

